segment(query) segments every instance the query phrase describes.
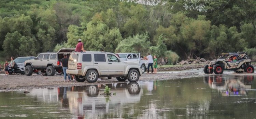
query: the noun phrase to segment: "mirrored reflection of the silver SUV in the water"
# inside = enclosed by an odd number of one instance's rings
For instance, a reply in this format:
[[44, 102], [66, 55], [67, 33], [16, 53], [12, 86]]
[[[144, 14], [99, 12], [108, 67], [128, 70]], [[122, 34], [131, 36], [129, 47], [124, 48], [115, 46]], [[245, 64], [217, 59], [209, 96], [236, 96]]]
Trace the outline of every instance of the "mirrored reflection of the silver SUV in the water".
[[[106, 86], [111, 88], [111, 92], [116, 93], [116, 96], [100, 95]], [[71, 113], [77, 116], [73, 118], [104, 115], [109, 110], [120, 109], [123, 104], [139, 102], [141, 95], [142, 89], [137, 82], [58, 88], [62, 107], [69, 106]]]

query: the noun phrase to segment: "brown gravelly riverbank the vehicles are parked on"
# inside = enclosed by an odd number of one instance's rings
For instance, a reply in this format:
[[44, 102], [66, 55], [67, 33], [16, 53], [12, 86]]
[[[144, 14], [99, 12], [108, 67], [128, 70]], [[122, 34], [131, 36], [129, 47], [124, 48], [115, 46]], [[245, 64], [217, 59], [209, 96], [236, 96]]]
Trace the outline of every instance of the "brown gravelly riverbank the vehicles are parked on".
[[[139, 81], [148, 80], [166, 80], [177, 78], [189, 78], [198, 77], [197, 73], [158, 73], [158, 74], [142, 74]], [[106, 84], [106, 83], [118, 83], [115, 78], [101, 79], [95, 83], [85, 82], [64, 82], [63, 75], [55, 76], [42, 76], [33, 74], [31, 76], [26, 75], [0, 75], [0, 91], [12, 91], [12, 90], [25, 90], [33, 88], [53, 88], [53, 87], [65, 87], [65, 86], [83, 86], [92, 84]]]

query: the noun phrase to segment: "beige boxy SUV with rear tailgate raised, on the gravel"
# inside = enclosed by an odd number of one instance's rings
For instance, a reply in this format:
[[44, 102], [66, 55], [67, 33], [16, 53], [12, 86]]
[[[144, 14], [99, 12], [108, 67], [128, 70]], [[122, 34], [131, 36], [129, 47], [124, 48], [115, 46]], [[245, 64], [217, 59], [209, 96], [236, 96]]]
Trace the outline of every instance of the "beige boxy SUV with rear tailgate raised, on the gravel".
[[73, 52], [74, 48], [62, 48], [58, 52], [45, 52], [40, 53], [33, 60], [27, 60], [25, 62], [25, 74], [32, 75], [33, 72], [41, 71], [42, 75], [54, 75], [55, 72], [62, 72], [60, 65], [61, 59], [64, 57], [63, 54]]

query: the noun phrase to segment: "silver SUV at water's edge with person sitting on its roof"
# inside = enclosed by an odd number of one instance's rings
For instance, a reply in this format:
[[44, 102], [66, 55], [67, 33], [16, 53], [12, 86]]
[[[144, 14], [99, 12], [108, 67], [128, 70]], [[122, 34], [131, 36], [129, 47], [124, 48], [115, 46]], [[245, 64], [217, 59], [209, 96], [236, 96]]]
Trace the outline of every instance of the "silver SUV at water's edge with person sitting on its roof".
[[77, 82], [96, 82], [98, 78], [116, 77], [118, 81], [136, 82], [142, 71], [139, 63], [120, 61], [109, 52], [73, 52], [67, 73], [75, 75]]

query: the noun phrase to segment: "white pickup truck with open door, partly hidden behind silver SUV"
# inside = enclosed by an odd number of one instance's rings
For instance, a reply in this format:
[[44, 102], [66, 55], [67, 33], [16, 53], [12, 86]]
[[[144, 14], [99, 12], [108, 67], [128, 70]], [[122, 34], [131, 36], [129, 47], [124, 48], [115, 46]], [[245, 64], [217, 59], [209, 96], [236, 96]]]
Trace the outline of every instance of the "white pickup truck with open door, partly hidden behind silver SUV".
[[141, 60], [140, 53], [116, 53], [116, 55], [122, 61], [136, 62], [140, 64], [140, 68], [142, 69], [142, 73], [145, 73], [146, 67], [148, 65], [147, 60]]

